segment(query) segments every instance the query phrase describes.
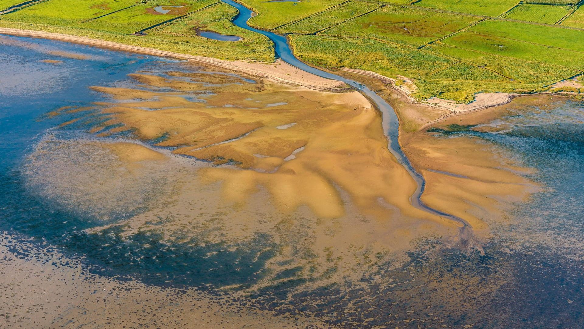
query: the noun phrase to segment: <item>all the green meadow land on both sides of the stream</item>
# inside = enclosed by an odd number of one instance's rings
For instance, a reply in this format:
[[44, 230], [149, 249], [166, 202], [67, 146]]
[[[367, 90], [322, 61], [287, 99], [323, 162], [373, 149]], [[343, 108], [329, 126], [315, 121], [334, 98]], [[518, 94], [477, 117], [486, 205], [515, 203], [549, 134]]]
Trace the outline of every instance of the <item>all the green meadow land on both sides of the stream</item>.
[[[308, 64], [405, 76], [420, 100], [541, 91], [584, 73], [584, 6], [575, 0], [239, 1], [258, 13], [250, 25], [287, 35]], [[269, 39], [235, 26], [235, 15], [220, 0], [46, 0], [0, 15], [0, 26], [273, 61]], [[211, 40], [197, 30], [242, 40]]]

